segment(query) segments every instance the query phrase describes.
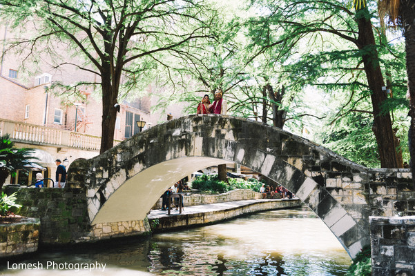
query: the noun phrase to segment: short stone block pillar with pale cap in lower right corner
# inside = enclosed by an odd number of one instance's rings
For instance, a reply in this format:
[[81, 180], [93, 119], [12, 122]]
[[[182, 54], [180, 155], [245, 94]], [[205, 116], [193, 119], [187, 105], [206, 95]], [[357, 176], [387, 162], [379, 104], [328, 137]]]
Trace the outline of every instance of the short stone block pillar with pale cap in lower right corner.
[[415, 217], [369, 217], [373, 276], [415, 276]]

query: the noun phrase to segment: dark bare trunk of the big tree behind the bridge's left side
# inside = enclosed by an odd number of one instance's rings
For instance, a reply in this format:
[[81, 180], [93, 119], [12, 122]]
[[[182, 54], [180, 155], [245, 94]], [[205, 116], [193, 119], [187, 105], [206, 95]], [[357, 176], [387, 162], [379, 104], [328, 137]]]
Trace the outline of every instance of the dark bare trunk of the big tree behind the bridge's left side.
[[99, 153], [103, 153], [114, 145], [115, 121], [117, 110], [117, 88], [111, 85], [110, 71], [102, 72], [102, 136]]

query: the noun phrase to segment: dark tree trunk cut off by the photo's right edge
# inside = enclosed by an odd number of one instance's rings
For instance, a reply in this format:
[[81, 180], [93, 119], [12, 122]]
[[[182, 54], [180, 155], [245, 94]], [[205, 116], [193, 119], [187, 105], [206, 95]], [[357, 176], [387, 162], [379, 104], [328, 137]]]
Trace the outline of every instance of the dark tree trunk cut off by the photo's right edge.
[[415, 184], [415, 1], [401, 0], [401, 15], [403, 24], [403, 35], [405, 37], [406, 51], [406, 70], [408, 75], [409, 90], [409, 116], [411, 125], [409, 126], [409, 154], [411, 155], [410, 166], [412, 170], [412, 180]]

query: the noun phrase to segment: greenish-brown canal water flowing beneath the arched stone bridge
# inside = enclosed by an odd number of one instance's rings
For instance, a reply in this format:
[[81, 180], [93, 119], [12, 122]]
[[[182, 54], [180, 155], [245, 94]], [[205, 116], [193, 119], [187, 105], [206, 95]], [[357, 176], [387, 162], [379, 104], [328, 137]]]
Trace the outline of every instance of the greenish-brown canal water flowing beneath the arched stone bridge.
[[[89, 269], [97, 264], [101, 268]], [[327, 226], [308, 209], [298, 208], [145, 240], [38, 253], [1, 264], [0, 275], [340, 276], [350, 264], [349, 255]], [[56, 269], [59, 266], [71, 269]]]

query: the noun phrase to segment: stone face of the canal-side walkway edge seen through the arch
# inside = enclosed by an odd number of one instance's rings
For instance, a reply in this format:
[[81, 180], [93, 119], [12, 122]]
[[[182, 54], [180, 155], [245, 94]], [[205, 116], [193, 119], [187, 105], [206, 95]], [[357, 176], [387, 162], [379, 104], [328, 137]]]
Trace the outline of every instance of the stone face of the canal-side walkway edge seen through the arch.
[[291, 200], [273, 200], [273, 201], [258, 201], [253, 204], [244, 205], [240, 207], [233, 207], [225, 210], [211, 211], [206, 213], [182, 214], [172, 215], [167, 217], [160, 217], [157, 219], [148, 219], [153, 232], [160, 232], [163, 230], [171, 230], [174, 228], [182, 228], [186, 226], [198, 226], [204, 224], [212, 224], [245, 215], [249, 213], [260, 212], [264, 210], [277, 210], [282, 208], [294, 208], [301, 206], [299, 199]]

